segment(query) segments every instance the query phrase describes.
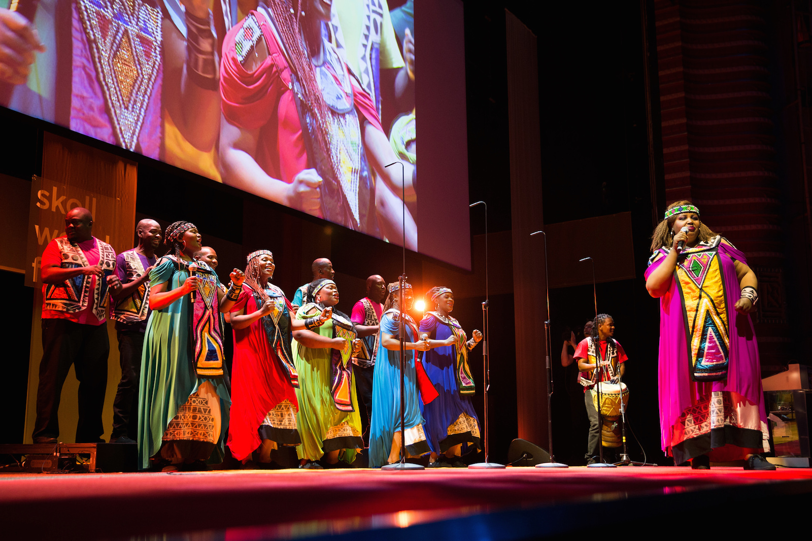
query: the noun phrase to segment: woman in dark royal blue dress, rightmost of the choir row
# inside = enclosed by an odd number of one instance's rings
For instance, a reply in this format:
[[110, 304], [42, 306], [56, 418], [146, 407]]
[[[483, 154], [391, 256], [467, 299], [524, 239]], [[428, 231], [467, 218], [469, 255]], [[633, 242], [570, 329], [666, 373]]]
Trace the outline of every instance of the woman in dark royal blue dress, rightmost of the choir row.
[[451, 289], [433, 288], [426, 296], [435, 309], [425, 313], [420, 332], [429, 335], [429, 340], [449, 343], [430, 349], [423, 357], [425, 371], [439, 392], [438, 398], [423, 408], [426, 436], [433, 456], [460, 456], [480, 448], [479, 421], [471, 403], [476, 390], [468, 353], [479, 342], [476, 336], [482, 340], [482, 335], [474, 331], [475, 338], [466, 340], [460, 322], [449, 315], [454, 307]]

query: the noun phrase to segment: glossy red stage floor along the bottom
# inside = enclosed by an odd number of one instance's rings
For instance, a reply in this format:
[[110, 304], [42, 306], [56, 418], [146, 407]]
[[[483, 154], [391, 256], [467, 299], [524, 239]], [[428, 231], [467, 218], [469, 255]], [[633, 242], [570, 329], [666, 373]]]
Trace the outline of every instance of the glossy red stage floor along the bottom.
[[673, 526], [688, 518], [752, 534], [773, 509], [805, 522], [810, 502], [812, 470], [788, 468], [0, 474], [0, 536], [471, 541], [581, 535], [598, 524], [604, 534], [622, 525], [624, 535], [671, 537], [685, 536]]

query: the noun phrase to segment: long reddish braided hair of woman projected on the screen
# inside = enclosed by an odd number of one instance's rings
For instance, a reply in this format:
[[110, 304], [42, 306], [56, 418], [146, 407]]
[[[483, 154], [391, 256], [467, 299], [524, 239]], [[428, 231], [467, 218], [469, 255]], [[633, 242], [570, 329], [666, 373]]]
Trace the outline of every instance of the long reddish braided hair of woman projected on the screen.
[[[276, 28], [279, 29], [280, 37], [282, 38], [283, 45], [287, 49], [288, 56], [291, 60], [292, 71], [299, 80], [301, 91], [304, 94], [302, 101], [305, 106], [308, 106], [313, 111], [315, 116], [315, 125], [318, 127], [316, 130], [316, 141], [314, 141], [329, 158], [330, 174], [334, 179], [339, 179], [338, 171], [339, 164], [335, 162], [333, 143], [331, 138], [326, 134], [326, 127], [330, 126], [330, 107], [324, 101], [321, 89], [319, 89], [316, 81], [316, 70], [313, 63], [310, 62], [310, 54], [307, 50], [307, 45], [302, 38], [302, 25], [300, 9], [302, 0], [264, 0], [266, 6], [274, 14], [274, 22]], [[319, 32], [319, 38], [321, 32]], [[303, 127], [303, 129], [305, 129]]]

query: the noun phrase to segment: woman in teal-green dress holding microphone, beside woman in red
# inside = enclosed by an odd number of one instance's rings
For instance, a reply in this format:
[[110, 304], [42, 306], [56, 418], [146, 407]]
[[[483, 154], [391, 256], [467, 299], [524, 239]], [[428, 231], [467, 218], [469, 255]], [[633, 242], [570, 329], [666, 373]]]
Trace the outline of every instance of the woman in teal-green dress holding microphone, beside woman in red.
[[[231, 399], [223, 380], [220, 281], [205, 262], [192, 260], [200, 241], [199, 236], [189, 239], [187, 232], [197, 236], [192, 223], [176, 222], [166, 228], [166, 244], [175, 247], [175, 255], [159, 259], [149, 273], [152, 313], [141, 357], [138, 400], [142, 469], [149, 468], [153, 457], [172, 465], [222, 461]], [[192, 275], [192, 262], [199, 279], [194, 301], [184, 286]], [[168, 304], [156, 297], [170, 295], [171, 299], [173, 293], [179, 296]]]

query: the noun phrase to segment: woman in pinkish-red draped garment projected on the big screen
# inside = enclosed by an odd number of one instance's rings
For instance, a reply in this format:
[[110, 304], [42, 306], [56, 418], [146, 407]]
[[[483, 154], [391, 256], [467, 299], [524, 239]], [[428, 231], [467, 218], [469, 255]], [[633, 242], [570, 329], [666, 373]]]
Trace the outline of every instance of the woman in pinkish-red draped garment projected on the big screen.
[[[289, 0], [260, 2], [226, 37], [223, 182], [372, 236], [400, 238], [403, 216], [388, 209], [401, 208], [401, 171], [383, 167], [397, 158], [378, 111], [322, 35], [329, 6], [300, 3], [294, 10]], [[404, 167], [409, 196], [415, 170]], [[386, 190], [376, 188], [372, 169]], [[411, 215], [406, 222], [408, 247], [417, 249]]]

